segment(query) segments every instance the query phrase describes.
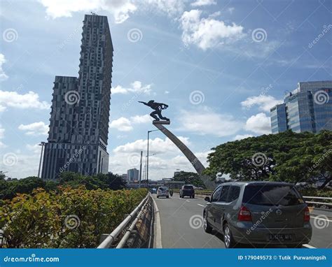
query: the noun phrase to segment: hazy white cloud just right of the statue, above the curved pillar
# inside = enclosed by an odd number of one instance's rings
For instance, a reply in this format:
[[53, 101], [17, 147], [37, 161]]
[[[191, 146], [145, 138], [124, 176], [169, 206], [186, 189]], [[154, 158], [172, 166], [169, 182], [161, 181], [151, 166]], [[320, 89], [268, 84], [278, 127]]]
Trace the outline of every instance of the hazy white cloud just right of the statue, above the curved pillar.
[[230, 136], [242, 128], [243, 123], [232, 115], [214, 113], [209, 108], [198, 111], [181, 111], [183, 130], [201, 135]]

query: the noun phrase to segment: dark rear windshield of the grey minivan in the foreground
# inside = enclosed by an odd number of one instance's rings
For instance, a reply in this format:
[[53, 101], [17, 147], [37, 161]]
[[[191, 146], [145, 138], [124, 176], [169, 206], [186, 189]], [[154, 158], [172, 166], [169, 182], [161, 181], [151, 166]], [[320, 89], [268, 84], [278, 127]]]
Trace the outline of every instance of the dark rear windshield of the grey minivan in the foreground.
[[289, 185], [247, 185], [243, 202], [255, 205], [299, 205], [304, 203], [296, 189]]

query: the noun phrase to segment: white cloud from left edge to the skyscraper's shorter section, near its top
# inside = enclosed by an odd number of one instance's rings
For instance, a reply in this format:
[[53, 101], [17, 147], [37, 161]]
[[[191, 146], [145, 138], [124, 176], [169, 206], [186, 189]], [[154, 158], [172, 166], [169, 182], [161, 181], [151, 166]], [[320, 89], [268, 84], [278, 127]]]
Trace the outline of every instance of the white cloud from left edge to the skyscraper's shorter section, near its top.
[[27, 94], [18, 94], [18, 92], [0, 90], [0, 111], [4, 111], [6, 107], [43, 110], [50, 108], [50, 104], [46, 101], [39, 101], [39, 95], [35, 92], [30, 91]]

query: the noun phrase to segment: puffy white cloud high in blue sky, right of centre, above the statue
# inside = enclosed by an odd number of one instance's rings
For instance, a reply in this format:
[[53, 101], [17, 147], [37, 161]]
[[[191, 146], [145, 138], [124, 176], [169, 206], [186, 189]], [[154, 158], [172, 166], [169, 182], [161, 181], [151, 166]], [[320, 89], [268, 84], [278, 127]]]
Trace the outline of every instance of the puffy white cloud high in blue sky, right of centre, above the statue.
[[201, 18], [202, 10], [186, 11], [180, 18], [185, 45], [195, 44], [202, 50], [242, 38], [243, 27], [233, 23], [226, 25], [213, 17]]

